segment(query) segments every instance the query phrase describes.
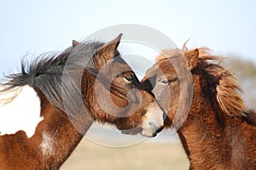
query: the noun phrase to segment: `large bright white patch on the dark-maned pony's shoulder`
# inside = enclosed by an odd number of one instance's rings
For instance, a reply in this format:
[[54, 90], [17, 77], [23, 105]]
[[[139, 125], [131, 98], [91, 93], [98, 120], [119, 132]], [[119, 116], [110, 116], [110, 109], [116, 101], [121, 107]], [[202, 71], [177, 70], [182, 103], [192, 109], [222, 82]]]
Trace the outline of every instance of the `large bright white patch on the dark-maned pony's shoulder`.
[[[22, 130], [31, 138], [38, 123], [43, 120], [40, 116], [40, 99], [29, 86], [20, 87], [18, 91], [20, 93], [10, 103], [0, 104], [0, 135], [15, 134]], [[10, 94], [1, 94], [0, 98], [6, 98], [3, 95], [9, 97]]]

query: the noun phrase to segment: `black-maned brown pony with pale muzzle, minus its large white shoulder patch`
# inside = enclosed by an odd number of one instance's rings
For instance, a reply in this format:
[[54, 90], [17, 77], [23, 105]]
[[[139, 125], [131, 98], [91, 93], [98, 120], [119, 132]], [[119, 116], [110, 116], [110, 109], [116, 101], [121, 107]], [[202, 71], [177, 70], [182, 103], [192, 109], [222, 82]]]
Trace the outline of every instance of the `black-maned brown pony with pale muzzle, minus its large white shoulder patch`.
[[121, 36], [105, 44], [73, 41], [61, 54], [23, 62], [21, 72], [8, 77], [1, 93], [32, 88], [42, 121], [31, 136], [22, 129], [1, 133], [0, 169], [59, 169], [94, 121], [148, 137], [160, 131], [163, 111], [120, 58]]

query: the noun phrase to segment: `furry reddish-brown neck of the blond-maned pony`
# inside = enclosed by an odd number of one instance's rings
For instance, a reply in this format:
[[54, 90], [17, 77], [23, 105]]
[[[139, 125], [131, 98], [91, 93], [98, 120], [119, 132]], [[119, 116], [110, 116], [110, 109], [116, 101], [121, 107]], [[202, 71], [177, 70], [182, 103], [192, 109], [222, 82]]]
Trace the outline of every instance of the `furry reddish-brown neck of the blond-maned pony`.
[[189, 116], [177, 131], [192, 169], [225, 169], [228, 162], [223, 125], [218, 118], [224, 113], [211, 93], [206, 79], [194, 76], [194, 97]]

